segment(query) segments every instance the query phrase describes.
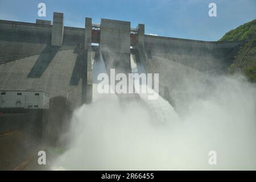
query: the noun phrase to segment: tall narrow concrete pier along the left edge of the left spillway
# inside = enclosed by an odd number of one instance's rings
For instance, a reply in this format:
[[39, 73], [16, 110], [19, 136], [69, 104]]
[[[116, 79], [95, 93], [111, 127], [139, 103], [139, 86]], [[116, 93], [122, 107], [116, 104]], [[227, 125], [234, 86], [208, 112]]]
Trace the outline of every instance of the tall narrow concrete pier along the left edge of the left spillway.
[[92, 80], [92, 18], [85, 18], [84, 49], [87, 51], [86, 61], [86, 93], [85, 104], [92, 102], [93, 80]]

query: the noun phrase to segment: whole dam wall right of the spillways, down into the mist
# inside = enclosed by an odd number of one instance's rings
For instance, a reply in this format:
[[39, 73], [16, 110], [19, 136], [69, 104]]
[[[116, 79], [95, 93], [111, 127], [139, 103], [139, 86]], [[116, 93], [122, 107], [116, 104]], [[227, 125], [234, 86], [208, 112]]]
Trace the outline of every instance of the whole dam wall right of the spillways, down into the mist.
[[[146, 60], [142, 63], [146, 63], [147, 72], [159, 73], [160, 96], [178, 109], [177, 98], [200, 96], [200, 86], [207, 84], [209, 77], [226, 74], [242, 43], [144, 35]], [[188, 90], [192, 84], [198, 89]]]

